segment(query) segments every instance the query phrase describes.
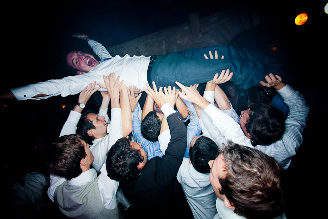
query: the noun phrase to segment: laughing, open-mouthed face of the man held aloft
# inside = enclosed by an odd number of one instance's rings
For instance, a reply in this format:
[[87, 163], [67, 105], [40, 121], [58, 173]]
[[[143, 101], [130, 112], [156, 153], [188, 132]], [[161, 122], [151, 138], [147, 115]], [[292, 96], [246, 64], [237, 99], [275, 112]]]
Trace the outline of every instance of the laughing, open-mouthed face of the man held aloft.
[[78, 70], [78, 74], [87, 73], [99, 64], [94, 56], [81, 51], [69, 52], [66, 56], [66, 63], [68, 66]]

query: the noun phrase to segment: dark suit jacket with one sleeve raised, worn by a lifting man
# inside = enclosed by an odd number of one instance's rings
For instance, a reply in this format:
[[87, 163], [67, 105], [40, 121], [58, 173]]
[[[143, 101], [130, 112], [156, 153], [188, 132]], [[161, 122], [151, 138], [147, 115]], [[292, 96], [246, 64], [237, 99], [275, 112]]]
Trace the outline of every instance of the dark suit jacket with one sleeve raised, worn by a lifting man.
[[174, 211], [172, 208], [181, 204], [181, 198], [185, 199], [176, 176], [186, 150], [187, 129], [178, 112], [168, 116], [167, 121], [171, 141], [165, 155], [150, 159], [134, 182], [120, 183], [124, 195], [131, 203], [130, 208], [141, 214], [149, 214], [151, 218]]

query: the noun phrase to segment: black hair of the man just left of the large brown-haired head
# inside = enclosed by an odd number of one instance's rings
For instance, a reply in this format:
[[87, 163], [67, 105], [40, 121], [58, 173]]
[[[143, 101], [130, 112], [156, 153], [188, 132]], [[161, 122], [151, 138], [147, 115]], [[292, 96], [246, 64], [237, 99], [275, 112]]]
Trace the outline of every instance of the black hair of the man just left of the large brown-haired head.
[[191, 164], [200, 173], [210, 173], [211, 168], [208, 162], [216, 159], [219, 154], [220, 151], [215, 142], [205, 136], [199, 137], [189, 149]]

